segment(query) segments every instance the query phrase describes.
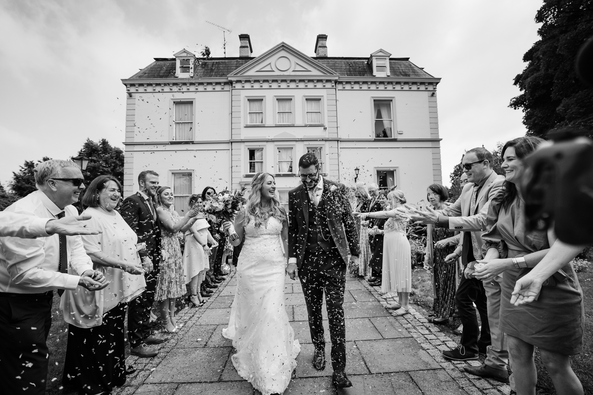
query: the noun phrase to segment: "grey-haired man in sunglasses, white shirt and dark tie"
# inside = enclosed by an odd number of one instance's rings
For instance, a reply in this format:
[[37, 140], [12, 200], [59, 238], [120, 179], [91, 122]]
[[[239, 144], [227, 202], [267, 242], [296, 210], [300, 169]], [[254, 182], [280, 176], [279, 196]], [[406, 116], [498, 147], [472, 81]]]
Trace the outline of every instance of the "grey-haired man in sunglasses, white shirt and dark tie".
[[[38, 191], [5, 211], [50, 219], [78, 216], [71, 205], [85, 188], [78, 166], [47, 160], [34, 174]], [[68, 268], [76, 274], [68, 274]], [[107, 284], [93, 270], [80, 236], [0, 237], [0, 339], [10, 339], [0, 348], [5, 393], [45, 393], [53, 290], [61, 294], [82, 285], [94, 291]]]

